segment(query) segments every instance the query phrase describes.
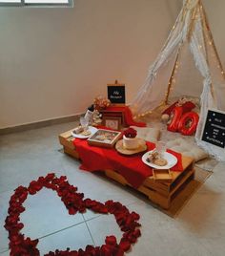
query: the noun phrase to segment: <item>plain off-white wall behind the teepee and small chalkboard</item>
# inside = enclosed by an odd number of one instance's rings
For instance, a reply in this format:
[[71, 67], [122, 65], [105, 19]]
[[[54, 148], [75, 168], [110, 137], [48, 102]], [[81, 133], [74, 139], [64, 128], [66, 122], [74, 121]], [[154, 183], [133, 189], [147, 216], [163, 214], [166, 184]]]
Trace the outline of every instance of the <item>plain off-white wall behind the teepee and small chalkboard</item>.
[[[225, 1], [204, 0], [224, 63]], [[0, 128], [85, 111], [119, 79], [131, 101], [182, 0], [75, 0], [0, 8]]]

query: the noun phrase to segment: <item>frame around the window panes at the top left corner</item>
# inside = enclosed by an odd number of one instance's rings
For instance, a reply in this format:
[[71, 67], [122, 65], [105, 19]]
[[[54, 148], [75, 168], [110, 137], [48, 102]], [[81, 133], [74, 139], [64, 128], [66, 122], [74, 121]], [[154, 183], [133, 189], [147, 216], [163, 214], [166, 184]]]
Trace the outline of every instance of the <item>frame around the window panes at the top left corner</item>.
[[[0, 0], [1, 1], [1, 0]], [[30, 8], [30, 7], [43, 7], [43, 8], [53, 8], [53, 7], [62, 7], [62, 8], [72, 8], [74, 5], [75, 0], [68, 0], [68, 4], [65, 3], [25, 3], [24, 0], [20, 0], [19, 3], [10, 3], [10, 2], [0, 2], [1, 7], [23, 7], [23, 8]]]

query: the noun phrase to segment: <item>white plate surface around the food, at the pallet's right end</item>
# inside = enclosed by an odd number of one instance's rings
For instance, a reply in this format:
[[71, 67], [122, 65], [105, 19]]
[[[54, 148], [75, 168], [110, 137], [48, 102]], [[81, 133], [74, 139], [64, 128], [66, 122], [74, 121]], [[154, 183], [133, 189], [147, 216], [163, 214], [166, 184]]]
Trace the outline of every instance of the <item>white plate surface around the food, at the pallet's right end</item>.
[[167, 165], [159, 166], [159, 165], [153, 164], [153, 162], [147, 161], [147, 159], [152, 151], [146, 152], [142, 156], [142, 160], [144, 161], [145, 164], [153, 167], [154, 169], [171, 169], [177, 162], [177, 159], [176, 159], [176, 157], [174, 157], [174, 155], [172, 155], [168, 152], [164, 152], [162, 157], [163, 157], [163, 159], [167, 160]]

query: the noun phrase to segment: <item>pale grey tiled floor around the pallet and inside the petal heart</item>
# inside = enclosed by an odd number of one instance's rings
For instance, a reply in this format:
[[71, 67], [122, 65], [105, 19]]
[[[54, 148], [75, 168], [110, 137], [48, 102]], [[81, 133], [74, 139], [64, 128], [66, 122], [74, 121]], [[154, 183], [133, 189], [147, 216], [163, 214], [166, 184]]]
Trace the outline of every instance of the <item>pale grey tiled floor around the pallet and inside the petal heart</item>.
[[[128, 255], [225, 255], [225, 171], [224, 162], [194, 194], [176, 219], [154, 208], [148, 201], [115, 182], [79, 170], [79, 162], [59, 152], [58, 134], [74, 123], [54, 125], [0, 137], [0, 255], [10, 255], [8, 233], [3, 227], [13, 189], [49, 172], [66, 175], [85, 197], [105, 202], [109, 199], [127, 205], [140, 214], [142, 235]], [[101, 245], [105, 237], [121, 236], [112, 215], [70, 216], [51, 190], [29, 197], [21, 214], [23, 232], [40, 238], [41, 255], [58, 249]]]

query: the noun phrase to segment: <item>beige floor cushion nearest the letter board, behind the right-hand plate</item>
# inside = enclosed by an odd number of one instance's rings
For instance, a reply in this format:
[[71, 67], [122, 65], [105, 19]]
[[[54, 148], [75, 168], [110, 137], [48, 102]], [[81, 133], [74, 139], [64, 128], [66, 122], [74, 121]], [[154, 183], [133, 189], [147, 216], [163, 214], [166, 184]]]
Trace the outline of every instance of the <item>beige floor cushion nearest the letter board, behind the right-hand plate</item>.
[[185, 139], [174, 139], [166, 143], [166, 147], [184, 156], [191, 157], [195, 161], [204, 160], [209, 157], [202, 148], [198, 147], [194, 142], [188, 142]]

